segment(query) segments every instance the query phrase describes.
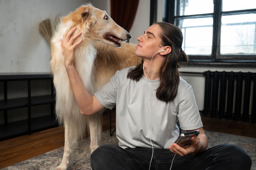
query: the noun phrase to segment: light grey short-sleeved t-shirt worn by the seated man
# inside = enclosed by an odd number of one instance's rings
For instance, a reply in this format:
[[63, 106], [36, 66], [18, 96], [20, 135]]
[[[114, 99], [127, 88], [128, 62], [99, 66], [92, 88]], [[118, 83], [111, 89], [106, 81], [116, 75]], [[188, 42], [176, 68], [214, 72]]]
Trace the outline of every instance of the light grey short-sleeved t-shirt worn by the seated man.
[[[130, 68], [117, 71], [94, 93], [106, 108], [116, 106], [116, 136], [122, 148], [165, 148], [175, 142], [179, 128], [194, 130], [203, 126], [193, 89], [180, 77], [178, 93], [171, 102], [156, 97], [159, 80], [145, 77], [136, 82], [127, 78]], [[152, 135], [151, 135], [152, 133]]]

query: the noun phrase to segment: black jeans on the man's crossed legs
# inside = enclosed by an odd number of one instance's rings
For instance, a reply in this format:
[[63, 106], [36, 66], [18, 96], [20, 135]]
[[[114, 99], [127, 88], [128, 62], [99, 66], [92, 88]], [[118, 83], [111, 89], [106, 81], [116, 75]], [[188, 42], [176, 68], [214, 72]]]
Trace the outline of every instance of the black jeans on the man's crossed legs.
[[[104, 144], [91, 155], [92, 170], [149, 170], [152, 148], [123, 149]], [[154, 149], [150, 170], [170, 170], [174, 154]], [[171, 170], [250, 170], [252, 159], [240, 147], [219, 145], [196, 155], [175, 155]]]

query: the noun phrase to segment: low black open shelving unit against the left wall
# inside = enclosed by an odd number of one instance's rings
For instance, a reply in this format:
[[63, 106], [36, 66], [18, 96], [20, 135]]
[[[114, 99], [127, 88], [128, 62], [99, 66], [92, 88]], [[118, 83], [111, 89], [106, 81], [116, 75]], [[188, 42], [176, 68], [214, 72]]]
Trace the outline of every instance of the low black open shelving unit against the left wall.
[[[50, 94], [31, 96], [31, 88], [36, 88], [31, 84], [35, 80], [46, 80], [51, 83]], [[27, 82], [27, 96], [9, 98], [9, 82]], [[55, 116], [55, 91], [53, 77], [49, 73], [0, 73], [0, 83], [3, 84], [3, 97], [0, 98], [0, 113], [4, 113], [4, 124], [0, 124], [0, 141], [16, 137], [19, 135], [30, 135], [32, 132], [58, 126]], [[49, 90], [49, 89], [48, 89]], [[0, 89], [2, 91], [2, 89]], [[24, 92], [23, 92], [24, 93]], [[1, 95], [1, 93], [0, 93]], [[31, 108], [38, 105], [50, 105], [49, 115], [31, 117]], [[9, 121], [8, 112], [13, 109], [25, 108], [27, 119], [19, 121]]]

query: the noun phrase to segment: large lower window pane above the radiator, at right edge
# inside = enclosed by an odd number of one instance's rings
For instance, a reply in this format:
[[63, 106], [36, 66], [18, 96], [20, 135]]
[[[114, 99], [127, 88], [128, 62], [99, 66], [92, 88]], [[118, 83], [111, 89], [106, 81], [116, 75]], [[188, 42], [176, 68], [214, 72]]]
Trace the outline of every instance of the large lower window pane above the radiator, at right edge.
[[256, 14], [222, 16], [220, 54], [256, 54]]

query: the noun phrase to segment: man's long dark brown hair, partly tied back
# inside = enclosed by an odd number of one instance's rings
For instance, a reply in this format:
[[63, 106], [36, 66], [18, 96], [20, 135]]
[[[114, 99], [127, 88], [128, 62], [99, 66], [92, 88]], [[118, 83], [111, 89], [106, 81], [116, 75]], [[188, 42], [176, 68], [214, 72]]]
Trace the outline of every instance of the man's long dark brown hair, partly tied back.
[[[159, 33], [162, 46], [171, 46], [172, 48], [171, 53], [165, 56], [160, 68], [160, 84], [156, 92], [158, 99], [170, 102], [176, 97], [178, 91], [180, 82], [178, 68], [185, 66], [189, 58], [182, 50], [183, 35], [179, 27], [167, 22], [156, 22], [154, 24], [158, 24], [162, 29], [162, 32]], [[129, 71], [127, 78], [139, 81], [142, 75], [143, 61]]]

